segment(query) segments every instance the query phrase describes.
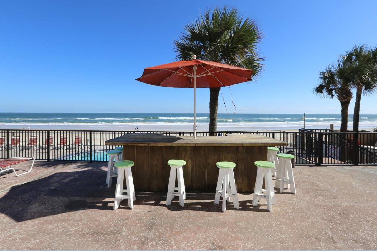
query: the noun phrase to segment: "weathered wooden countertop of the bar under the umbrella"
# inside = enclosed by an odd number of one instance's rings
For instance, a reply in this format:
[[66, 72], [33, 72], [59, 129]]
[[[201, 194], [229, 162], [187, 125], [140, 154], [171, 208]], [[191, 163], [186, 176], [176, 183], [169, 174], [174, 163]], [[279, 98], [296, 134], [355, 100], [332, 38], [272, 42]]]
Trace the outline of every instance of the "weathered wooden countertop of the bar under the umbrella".
[[156, 146], [270, 146], [287, 145], [286, 142], [259, 134], [231, 134], [228, 136], [169, 136], [155, 133], [129, 133], [110, 139], [106, 145]]

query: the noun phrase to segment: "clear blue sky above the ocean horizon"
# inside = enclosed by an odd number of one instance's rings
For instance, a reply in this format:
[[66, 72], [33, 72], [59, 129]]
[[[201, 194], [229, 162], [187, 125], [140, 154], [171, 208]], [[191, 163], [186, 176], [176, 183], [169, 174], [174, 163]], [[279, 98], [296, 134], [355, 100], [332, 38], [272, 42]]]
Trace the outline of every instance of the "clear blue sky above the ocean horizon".
[[[255, 18], [265, 35], [261, 79], [231, 86], [237, 113], [340, 113], [336, 99], [311, 90], [339, 54], [377, 44], [374, 0], [1, 1], [0, 111], [192, 112], [192, 89], [134, 79], [173, 61], [185, 24], [226, 4]], [[229, 89], [223, 94], [233, 112]], [[376, 100], [363, 96], [361, 113], [376, 114]], [[208, 101], [209, 90], [198, 89], [197, 112], [207, 113]]]

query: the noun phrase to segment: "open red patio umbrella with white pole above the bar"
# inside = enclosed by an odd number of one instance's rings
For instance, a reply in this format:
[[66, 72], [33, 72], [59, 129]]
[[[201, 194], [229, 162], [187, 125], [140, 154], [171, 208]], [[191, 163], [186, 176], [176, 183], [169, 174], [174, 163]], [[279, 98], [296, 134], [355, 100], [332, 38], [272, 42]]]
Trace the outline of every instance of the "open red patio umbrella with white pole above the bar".
[[196, 88], [231, 86], [251, 80], [253, 70], [196, 59], [147, 67], [136, 80], [154, 86], [194, 88], [194, 138], [196, 138]]

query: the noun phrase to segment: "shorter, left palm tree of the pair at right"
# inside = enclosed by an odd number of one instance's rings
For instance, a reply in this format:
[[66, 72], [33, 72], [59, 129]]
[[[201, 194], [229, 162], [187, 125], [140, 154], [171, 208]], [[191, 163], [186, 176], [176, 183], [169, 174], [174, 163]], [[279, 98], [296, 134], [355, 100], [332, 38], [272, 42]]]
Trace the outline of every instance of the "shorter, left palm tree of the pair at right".
[[338, 60], [336, 65], [329, 65], [324, 71], [319, 72], [319, 82], [313, 92], [329, 98], [336, 97], [339, 100], [342, 107], [340, 132], [347, 132], [348, 106], [352, 99], [352, 70]]

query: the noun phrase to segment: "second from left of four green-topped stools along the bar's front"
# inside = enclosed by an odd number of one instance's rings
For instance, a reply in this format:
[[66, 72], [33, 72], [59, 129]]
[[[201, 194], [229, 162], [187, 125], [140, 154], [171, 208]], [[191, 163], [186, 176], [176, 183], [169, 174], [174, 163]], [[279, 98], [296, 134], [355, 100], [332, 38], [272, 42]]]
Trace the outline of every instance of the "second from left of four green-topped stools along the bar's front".
[[[179, 205], [184, 207], [184, 199], [186, 199], [185, 181], [183, 178], [183, 166], [186, 161], [178, 159], [170, 159], [167, 162], [170, 165], [169, 185], [167, 188], [166, 205], [172, 204], [174, 196], [179, 196]], [[178, 187], [175, 187], [175, 177], [177, 177]]]

